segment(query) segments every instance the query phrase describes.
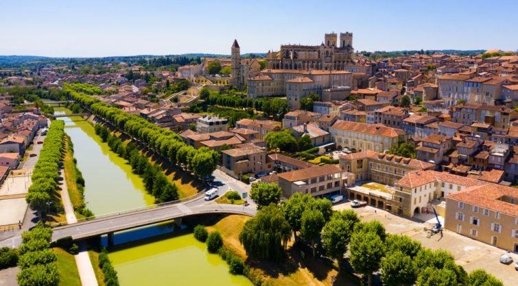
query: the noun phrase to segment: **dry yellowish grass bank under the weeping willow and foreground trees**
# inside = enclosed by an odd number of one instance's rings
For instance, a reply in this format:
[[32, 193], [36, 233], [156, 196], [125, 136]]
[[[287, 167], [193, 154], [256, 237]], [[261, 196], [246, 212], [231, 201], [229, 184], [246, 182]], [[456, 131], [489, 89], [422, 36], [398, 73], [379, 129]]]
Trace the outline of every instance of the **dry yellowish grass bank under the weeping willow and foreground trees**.
[[243, 246], [239, 243], [239, 232], [248, 216], [226, 216], [213, 225], [207, 226], [207, 230], [220, 231], [226, 248], [232, 250], [236, 255], [246, 259], [252, 272], [263, 276], [263, 283], [270, 285], [360, 285], [354, 278], [346, 274], [339, 274], [337, 268], [331, 261], [325, 259], [314, 259], [311, 252], [306, 252], [305, 259], [302, 259], [300, 250], [292, 248], [287, 252], [287, 259], [282, 263], [270, 261], [256, 261], [247, 257]]

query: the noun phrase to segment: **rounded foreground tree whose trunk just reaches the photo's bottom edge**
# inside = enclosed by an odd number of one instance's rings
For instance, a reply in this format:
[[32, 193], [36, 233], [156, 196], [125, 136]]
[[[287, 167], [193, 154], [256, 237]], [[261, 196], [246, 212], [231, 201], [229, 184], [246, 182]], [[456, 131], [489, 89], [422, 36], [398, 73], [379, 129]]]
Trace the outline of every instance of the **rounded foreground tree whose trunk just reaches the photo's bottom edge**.
[[349, 259], [355, 272], [368, 277], [368, 285], [373, 285], [373, 273], [379, 270], [384, 256], [384, 243], [373, 231], [356, 231], [351, 235]]

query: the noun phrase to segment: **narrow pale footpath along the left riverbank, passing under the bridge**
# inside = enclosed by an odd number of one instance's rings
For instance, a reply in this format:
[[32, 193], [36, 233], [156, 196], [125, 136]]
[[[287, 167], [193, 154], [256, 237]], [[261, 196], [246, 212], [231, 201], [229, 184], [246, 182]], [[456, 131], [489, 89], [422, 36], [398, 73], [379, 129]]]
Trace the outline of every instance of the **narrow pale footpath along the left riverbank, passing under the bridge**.
[[[63, 200], [64, 212], [67, 214], [67, 222], [69, 224], [75, 224], [78, 222], [78, 218], [75, 217], [75, 213], [73, 212], [67, 179], [64, 177], [64, 170], [60, 170], [60, 175], [63, 178], [61, 181], [61, 198]], [[79, 253], [78, 255], [74, 255], [74, 259], [75, 264], [78, 267], [81, 284], [83, 286], [97, 285], [97, 278], [95, 278], [95, 272], [93, 271], [93, 266], [84, 243], [79, 242]]]

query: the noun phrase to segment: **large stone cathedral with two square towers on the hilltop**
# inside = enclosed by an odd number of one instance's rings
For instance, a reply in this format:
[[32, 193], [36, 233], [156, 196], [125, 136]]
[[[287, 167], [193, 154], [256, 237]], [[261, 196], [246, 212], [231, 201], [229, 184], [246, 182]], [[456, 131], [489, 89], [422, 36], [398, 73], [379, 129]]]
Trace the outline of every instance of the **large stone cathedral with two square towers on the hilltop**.
[[320, 46], [285, 44], [280, 51], [268, 51], [266, 68], [285, 70], [344, 70], [353, 58], [353, 33], [325, 34]]

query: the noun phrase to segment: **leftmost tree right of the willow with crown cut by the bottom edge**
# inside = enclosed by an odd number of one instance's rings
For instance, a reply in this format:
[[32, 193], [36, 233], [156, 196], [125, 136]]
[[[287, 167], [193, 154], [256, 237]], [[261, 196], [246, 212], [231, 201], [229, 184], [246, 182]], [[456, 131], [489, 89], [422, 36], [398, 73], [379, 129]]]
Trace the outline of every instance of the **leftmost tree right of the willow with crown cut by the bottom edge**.
[[388, 286], [411, 286], [417, 278], [417, 268], [408, 255], [401, 251], [387, 252], [387, 256], [381, 259], [381, 280]]

